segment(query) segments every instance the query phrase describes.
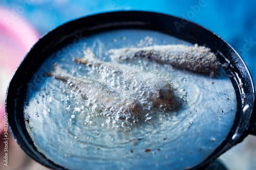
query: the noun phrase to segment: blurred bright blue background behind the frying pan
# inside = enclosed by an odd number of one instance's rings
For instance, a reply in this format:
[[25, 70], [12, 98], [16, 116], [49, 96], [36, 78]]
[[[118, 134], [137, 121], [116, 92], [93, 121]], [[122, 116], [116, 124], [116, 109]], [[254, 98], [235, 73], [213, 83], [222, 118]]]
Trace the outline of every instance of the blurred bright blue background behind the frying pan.
[[[12, 23], [16, 20], [25, 19], [37, 32], [38, 36], [36, 34], [34, 36], [36, 39], [39, 38], [39, 35], [44, 35], [69, 20], [104, 11], [144, 10], [179, 16], [198, 23], [226, 40], [241, 55], [256, 82], [256, 1], [1, 0], [0, 7], [10, 12], [9, 20], [8, 17], [6, 20], [6, 16], [0, 11], [2, 14], [0, 18], [5, 18], [4, 21], [9, 24], [9, 28], [14, 27]], [[19, 28], [14, 29], [18, 30]], [[3, 40], [3, 36], [0, 37], [0, 40], [2, 44], [3, 41], [6, 41]], [[5, 56], [0, 52], [0, 59], [1, 57]], [[3, 63], [0, 63], [0, 67], [2, 67], [1, 64]], [[14, 70], [12, 71], [14, 72]], [[0, 78], [3, 77], [8, 80], [10, 78], [10, 76], [5, 77], [5, 72], [2, 71]], [[0, 83], [0, 86], [6, 90], [5, 84]], [[232, 154], [227, 152], [221, 158], [229, 169], [256, 169], [256, 139], [254, 136], [248, 136], [244, 142], [231, 151]], [[44, 169], [40, 165], [33, 165], [33, 167], [35, 166]], [[2, 169], [1, 166], [0, 169]]]

